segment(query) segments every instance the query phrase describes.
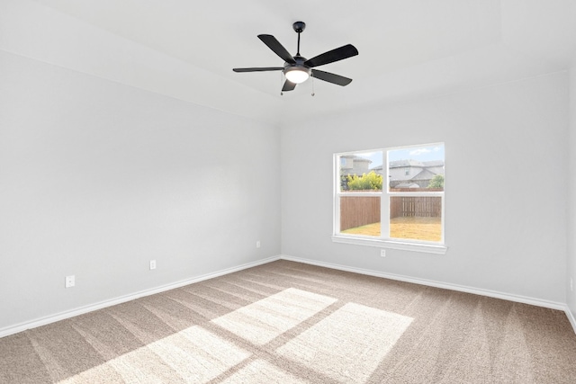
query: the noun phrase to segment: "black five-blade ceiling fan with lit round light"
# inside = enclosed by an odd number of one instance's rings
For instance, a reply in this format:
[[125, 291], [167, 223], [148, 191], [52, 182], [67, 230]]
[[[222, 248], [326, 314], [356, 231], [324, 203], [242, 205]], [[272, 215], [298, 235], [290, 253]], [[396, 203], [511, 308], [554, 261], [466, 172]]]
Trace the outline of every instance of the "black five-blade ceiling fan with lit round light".
[[351, 78], [339, 76], [329, 72], [314, 69], [314, 67], [323, 66], [345, 58], [351, 58], [358, 54], [358, 49], [352, 44], [347, 44], [337, 49], [329, 50], [314, 58], [307, 59], [300, 55], [300, 34], [306, 28], [305, 22], [294, 22], [293, 29], [298, 33], [298, 51], [296, 56], [283, 47], [282, 44], [272, 35], [258, 35], [269, 49], [272, 49], [276, 55], [284, 59], [284, 67], [251, 67], [251, 68], [233, 68], [234, 72], [265, 72], [265, 71], [283, 71], [286, 81], [282, 91], [293, 91], [296, 85], [305, 82], [310, 76], [320, 80], [327, 81], [336, 85], [348, 85], [352, 82]]

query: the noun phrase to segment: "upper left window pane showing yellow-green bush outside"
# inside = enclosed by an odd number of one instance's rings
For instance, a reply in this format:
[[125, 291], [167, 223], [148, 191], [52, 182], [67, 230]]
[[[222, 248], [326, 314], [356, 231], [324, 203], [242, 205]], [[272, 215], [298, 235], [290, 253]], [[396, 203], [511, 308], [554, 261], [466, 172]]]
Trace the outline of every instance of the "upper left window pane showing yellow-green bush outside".
[[383, 152], [338, 156], [340, 192], [382, 191]]

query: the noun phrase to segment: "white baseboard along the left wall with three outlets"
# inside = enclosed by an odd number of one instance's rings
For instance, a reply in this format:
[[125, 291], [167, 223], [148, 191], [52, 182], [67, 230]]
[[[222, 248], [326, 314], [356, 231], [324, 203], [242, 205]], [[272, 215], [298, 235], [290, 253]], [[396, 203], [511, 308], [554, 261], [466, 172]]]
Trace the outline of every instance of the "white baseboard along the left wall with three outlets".
[[92, 311], [97, 310], [97, 309], [112, 307], [112, 306], [115, 306], [117, 304], [124, 303], [126, 301], [143, 298], [145, 296], [154, 295], [156, 293], [164, 292], [166, 290], [174, 290], [175, 288], [184, 287], [185, 285], [193, 284], [194, 282], [213, 279], [215, 277], [219, 277], [219, 276], [229, 274], [232, 272], [238, 272], [238, 271], [242, 271], [242, 270], [247, 269], [247, 268], [252, 268], [252, 267], [255, 267], [257, 265], [275, 262], [276, 260], [279, 260], [279, 259], [280, 259], [280, 256], [272, 256], [272, 257], [268, 257], [268, 258], [263, 259], [263, 260], [258, 260], [257, 262], [245, 263], [242, 265], [238, 265], [236, 267], [227, 268], [227, 269], [217, 271], [217, 272], [206, 273], [206, 274], [203, 274], [202, 276], [197, 276], [197, 277], [193, 277], [191, 279], [186, 279], [186, 280], [182, 280], [182, 281], [176, 281], [174, 283], [162, 285], [162, 286], [152, 288], [149, 290], [140, 290], [139, 292], [136, 292], [136, 293], [131, 293], [129, 295], [124, 295], [124, 296], [121, 296], [118, 298], [100, 301], [100, 302], [97, 302], [94, 304], [87, 305], [85, 307], [74, 308], [71, 310], [57, 313], [55, 315], [37, 318], [35, 320], [31, 320], [31, 321], [17, 324], [15, 326], [7, 326], [7, 327], [0, 329], [0, 337], [4, 337], [7, 335], [14, 335], [14, 334], [17, 334], [19, 332], [23, 332], [26, 329], [35, 328], [37, 326], [46, 326], [50, 323], [55, 323], [57, 321], [64, 320], [64, 319], [69, 318], [69, 317], [75, 317], [78, 315], [83, 315], [87, 312], [92, 312]]

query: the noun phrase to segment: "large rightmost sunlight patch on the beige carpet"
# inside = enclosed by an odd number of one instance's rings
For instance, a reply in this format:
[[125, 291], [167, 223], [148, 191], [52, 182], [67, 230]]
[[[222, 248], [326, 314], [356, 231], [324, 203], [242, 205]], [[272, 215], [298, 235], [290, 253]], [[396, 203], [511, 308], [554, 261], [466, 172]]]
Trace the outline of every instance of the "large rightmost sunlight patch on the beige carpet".
[[348, 303], [276, 352], [334, 380], [364, 383], [412, 320]]

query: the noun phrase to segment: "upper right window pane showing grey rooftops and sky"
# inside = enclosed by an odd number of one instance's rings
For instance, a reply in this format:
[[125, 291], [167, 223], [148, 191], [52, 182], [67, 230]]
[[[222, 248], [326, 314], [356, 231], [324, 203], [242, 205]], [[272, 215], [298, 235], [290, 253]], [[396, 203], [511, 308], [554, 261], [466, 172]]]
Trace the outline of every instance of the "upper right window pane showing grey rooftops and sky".
[[388, 151], [390, 192], [444, 191], [444, 144]]

